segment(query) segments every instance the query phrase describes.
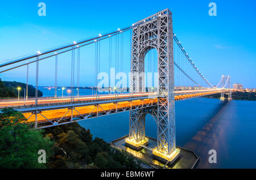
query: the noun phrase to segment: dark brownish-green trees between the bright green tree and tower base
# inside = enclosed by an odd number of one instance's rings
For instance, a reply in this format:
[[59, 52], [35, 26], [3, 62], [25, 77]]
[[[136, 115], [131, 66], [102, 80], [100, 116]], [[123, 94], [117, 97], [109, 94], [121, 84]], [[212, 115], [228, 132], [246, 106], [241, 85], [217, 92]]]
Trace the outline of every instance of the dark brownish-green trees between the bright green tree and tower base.
[[73, 122], [46, 128], [46, 136], [55, 141], [56, 151], [50, 168], [141, 168], [134, 157], [110, 147], [89, 130]]

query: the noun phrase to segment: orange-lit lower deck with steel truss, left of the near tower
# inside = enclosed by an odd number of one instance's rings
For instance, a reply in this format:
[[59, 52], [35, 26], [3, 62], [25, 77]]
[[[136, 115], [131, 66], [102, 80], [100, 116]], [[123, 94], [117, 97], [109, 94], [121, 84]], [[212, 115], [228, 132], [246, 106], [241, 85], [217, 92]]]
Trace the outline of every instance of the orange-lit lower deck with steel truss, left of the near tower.
[[[115, 113], [121, 113], [126, 111], [143, 111], [147, 108], [155, 108], [157, 105], [158, 98], [146, 98], [140, 100], [131, 101], [117, 101], [113, 103], [104, 103], [87, 105], [89, 111], [85, 111], [81, 108], [86, 108], [86, 105], [76, 106], [76, 105], [67, 105], [65, 108], [60, 108], [61, 115], [57, 118], [53, 118], [58, 109], [49, 109], [47, 107], [44, 110], [34, 110], [29, 111], [30, 114], [26, 121], [24, 122], [34, 122], [36, 128], [46, 128], [51, 126], [57, 126], [65, 123], [71, 123], [76, 121], [81, 121], [89, 118], [97, 118], [102, 115], [109, 115]], [[139, 103], [138, 103], [139, 101]], [[123, 104], [123, 102], [128, 102]], [[106, 105], [108, 107], [106, 108]], [[25, 113], [26, 116], [26, 113]]]

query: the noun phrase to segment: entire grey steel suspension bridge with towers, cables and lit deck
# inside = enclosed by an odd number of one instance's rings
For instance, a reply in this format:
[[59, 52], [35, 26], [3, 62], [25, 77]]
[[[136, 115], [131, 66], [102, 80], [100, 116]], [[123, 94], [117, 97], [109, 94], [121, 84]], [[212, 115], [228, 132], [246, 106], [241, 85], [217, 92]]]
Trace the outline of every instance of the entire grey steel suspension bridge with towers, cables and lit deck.
[[[87, 52], [82, 57], [86, 48]], [[71, 62], [71, 93], [65, 97], [57, 96], [60, 87], [58, 70], [61, 67], [58, 65], [64, 57], [69, 57]], [[55, 61], [55, 96], [38, 97], [39, 65], [46, 59]], [[90, 77], [94, 80], [91, 95], [79, 93], [83, 78], [80, 76], [82, 61], [94, 65], [94, 77]], [[130, 62], [129, 75], [123, 73], [125, 62]], [[35, 64], [34, 97], [28, 97], [28, 69], [31, 64]], [[99, 75], [102, 66], [107, 69], [103, 80]], [[18, 110], [26, 117], [24, 123], [34, 123], [35, 128], [129, 111], [129, 137], [125, 142], [133, 149], [147, 145], [145, 116], [151, 114], [158, 128], [157, 147], [152, 149], [152, 153], [159, 160], [170, 163], [179, 157], [175, 142], [175, 101], [215, 93], [220, 93], [221, 98], [228, 93], [228, 99], [232, 99], [230, 76], [222, 75], [217, 85], [212, 85], [205, 78], [173, 33], [172, 13], [168, 9], [126, 28], [4, 62], [0, 65], [0, 72], [11, 72], [16, 68], [27, 71], [24, 73], [27, 84], [24, 100], [2, 99], [1, 109], [11, 107]], [[129, 85], [126, 85], [127, 78]]]

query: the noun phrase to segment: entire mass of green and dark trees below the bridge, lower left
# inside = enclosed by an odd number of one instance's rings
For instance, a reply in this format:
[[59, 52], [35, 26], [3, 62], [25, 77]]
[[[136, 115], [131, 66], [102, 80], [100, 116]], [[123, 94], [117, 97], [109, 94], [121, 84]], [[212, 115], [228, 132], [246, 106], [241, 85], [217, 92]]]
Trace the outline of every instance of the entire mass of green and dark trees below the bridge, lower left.
[[[141, 168], [134, 157], [94, 138], [78, 123], [35, 130], [23, 114], [6, 108], [0, 113], [0, 168]], [[47, 163], [38, 163], [44, 149]]]

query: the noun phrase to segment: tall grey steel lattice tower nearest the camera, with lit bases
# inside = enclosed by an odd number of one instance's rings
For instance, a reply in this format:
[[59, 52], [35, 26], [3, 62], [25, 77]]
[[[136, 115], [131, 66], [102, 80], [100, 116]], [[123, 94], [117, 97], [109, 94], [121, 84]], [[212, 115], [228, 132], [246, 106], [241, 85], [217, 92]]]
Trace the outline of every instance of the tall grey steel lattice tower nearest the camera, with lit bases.
[[[174, 98], [174, 46], [172, 13], [168, 8], [146, 19], [133, 28], [131, 50], [131, 92], [144, 92], [144, 58], [155, 48], [158, 52], [158, 105], [151, 109], [157, 123], [157, 147], [153, 156], [172, 163], [179, 156], [175, 141], [175, 98]], [[140, 149], [147, 144], [143, 109], [130, 112], [129, 138], [126, 145]]]

